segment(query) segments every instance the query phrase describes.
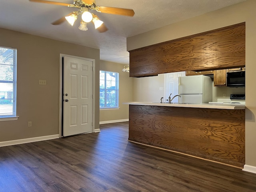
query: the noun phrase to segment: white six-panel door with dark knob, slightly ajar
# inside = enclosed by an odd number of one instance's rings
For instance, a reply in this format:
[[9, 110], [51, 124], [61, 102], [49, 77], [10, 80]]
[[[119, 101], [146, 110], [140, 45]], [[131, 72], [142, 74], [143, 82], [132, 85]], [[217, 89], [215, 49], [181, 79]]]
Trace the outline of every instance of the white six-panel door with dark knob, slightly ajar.
[[92, 132], [93, 62], [64, 56], [63, 136]]

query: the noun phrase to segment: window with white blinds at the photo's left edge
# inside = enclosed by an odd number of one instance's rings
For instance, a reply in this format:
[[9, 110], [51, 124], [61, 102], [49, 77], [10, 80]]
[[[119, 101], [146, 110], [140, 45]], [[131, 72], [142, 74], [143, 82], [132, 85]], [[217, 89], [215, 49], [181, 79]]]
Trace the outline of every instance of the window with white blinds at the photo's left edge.
[[16, 55], [16, 49], [0, 47], [0, 118], [16, 116]]

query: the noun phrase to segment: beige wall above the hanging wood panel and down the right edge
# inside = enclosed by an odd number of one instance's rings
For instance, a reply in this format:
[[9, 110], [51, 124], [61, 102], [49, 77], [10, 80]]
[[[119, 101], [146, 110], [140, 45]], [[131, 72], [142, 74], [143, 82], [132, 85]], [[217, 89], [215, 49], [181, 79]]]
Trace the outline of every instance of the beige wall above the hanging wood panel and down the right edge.
[[246, 22], [246, 164], [256, 166], [256, 1], [247, 0], [226, 8], [197, 16], [127, 38], [127, 50], [181, 38], [184, 36]]

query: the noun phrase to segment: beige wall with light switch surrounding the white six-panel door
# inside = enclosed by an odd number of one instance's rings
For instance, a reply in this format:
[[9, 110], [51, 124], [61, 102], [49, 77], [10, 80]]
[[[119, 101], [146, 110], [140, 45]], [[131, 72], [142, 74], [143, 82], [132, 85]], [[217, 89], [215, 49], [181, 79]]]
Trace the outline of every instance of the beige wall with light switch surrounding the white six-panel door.
[[[0, 122], [0, 142], [59, 134], [60, 54], [95, 59], [99, 128], [100, 50], [0, 28], [0, 46], [17, 48], [18, 120]], [[38, 84], [46, 80], [47, 85]], [[28, 127], [32, 121], [32, 127]]]

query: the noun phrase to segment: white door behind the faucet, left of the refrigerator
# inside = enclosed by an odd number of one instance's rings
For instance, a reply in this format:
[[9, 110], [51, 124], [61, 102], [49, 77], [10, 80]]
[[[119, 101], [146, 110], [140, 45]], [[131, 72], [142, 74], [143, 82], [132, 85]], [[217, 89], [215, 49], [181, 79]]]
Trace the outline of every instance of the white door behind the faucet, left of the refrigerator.
[[[163, 102], [167, 102], [166, 100], [168, 100], [168, 97], [170, 96], [170, 94], [172, 94], [171, 97], [178, 94], [179, 77], [186, 76], [186, 72], [182, 71], [182, 72], [166, 73], [165, 75], [166, 75], [165, 77], [166, 98], [164, 98], [165, 101], [163, 100]], [[177, 97], [174, 98], [172, 102], [178, 102], [178, 98]]]

